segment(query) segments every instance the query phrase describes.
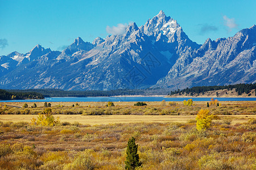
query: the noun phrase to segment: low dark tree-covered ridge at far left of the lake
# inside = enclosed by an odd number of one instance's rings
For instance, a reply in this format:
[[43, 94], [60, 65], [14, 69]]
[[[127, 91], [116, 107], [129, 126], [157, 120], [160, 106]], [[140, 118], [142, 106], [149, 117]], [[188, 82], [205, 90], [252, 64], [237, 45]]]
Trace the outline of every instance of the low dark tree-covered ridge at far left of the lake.
[[6, 91], [0, 89], [0, 100], [44, 99], [38, 92]]

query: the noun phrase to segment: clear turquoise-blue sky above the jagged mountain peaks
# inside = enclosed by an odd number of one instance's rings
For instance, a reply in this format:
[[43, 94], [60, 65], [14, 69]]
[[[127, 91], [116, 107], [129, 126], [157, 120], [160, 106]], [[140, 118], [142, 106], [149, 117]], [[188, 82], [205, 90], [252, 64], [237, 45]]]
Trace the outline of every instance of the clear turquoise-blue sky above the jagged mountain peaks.
[[[7, 1], [0, 0], [0, 56], [27, 53], [37, 44], [62, 50], [81, 37], [105, 38], [106, 28], [143, 25], [163, 10], [189, 39], [230, 37], [256, 24], [256, 1]], [[108, 29], [109, 30], [109, 29]]]

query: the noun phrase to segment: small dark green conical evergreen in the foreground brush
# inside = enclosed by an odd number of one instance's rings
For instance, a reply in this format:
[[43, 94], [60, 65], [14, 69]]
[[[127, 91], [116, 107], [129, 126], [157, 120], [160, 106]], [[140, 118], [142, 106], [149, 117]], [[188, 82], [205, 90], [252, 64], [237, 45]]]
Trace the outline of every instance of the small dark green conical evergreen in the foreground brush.
[[135, 144], [135, 138], [132, 137], [128, 141], [128, 145], [126, 148], [126, 161], [125, 161], [125, 169], [135, 169], [136, 167], [140, 167], [142, 162], [139, 161], [138, 145]]

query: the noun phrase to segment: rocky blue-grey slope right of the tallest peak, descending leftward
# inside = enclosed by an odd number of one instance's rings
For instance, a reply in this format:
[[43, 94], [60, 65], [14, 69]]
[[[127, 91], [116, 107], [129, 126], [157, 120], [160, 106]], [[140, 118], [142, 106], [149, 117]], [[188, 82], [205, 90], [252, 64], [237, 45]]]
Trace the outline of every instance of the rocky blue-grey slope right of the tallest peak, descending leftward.
[[158, 81], [158, 87], [255, 83], [256, 25], [228, 39], [207, 39], [191, 54], [190, 62], [179, 59], [167, 76]]

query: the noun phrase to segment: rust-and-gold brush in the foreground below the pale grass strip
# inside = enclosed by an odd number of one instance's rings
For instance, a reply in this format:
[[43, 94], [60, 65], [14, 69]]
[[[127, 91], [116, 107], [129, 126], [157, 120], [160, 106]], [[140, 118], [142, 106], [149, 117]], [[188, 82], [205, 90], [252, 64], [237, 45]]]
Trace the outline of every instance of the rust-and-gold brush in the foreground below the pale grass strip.
[[0, 122], [0, 169], [124, 169], [131, 137], [139, 145], [139, 169], [256, 168], [256, 121], [232, 125], [224, 120], [249, 117], [220, 117], [207, 131], [197, 131], [192, 120], [53, 127]]

